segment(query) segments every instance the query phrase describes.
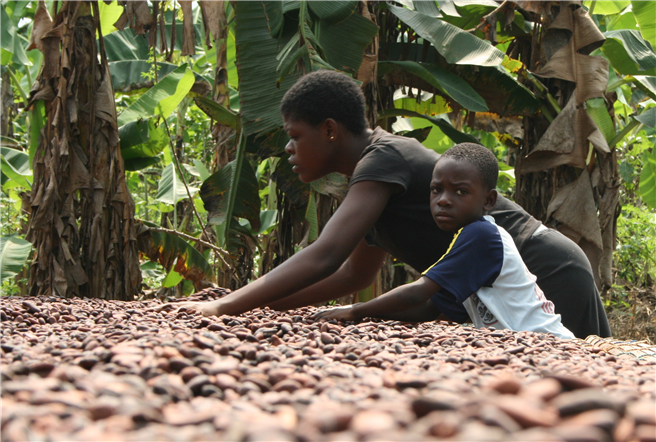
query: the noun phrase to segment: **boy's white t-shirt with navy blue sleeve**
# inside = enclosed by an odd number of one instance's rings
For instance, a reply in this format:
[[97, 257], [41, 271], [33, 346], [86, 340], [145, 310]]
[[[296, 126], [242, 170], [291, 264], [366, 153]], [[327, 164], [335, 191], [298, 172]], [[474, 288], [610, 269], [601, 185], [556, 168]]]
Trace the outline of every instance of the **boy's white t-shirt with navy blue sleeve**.
[[460, 303], [479, 328], [574, 338], [535, 283], [510, 234], [491, 216], [460, 229], [449, 250], [423, 275], [442, 287], [431, 300], [447, 316]]

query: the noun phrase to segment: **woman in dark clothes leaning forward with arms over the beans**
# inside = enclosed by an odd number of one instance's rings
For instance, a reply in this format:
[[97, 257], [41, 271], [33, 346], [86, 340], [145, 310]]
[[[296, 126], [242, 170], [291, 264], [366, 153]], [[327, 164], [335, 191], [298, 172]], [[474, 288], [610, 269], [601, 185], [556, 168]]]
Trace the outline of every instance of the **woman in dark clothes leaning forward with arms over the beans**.
[[[294, 172], [306, 183], [342, 173], [350, 177], [346, 198], [312, 245], [268, 274], [216, 301], [175, 307], [209, 316], [316, 304], [368, 287], [388, 253], [421, 272], [448, 249], [453, 234], [435, 225], [428, 204], [439, 155], [414, 139], [369, 129], [364, 97], [351, 78], [308, 74], [285, 94], [281, 112]], [[499, 200], [490, 215], [513, 236], [563, 324], [578, 337], [610, 335], [583, 252], [518, 205]], [[444, 310], [406, 310], [390, 319], [427, 321], [443, 314], [469, 321], [455, 299]]]

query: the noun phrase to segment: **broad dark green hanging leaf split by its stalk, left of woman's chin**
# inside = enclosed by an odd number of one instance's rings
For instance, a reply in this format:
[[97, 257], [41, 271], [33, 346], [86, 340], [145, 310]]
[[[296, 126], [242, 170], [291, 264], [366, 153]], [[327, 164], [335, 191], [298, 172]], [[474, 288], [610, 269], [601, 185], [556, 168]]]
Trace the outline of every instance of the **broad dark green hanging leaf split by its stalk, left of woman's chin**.
[[[210, 175], [200, 188], [200, 197], [208, 212], [210, 224], [223, 224], [227, 219], [229, 194], [236, 160]], [[260, 227], [260, 193], [255, 171], [243, 161], [232, 215], [245, 218], [253, 230]]]

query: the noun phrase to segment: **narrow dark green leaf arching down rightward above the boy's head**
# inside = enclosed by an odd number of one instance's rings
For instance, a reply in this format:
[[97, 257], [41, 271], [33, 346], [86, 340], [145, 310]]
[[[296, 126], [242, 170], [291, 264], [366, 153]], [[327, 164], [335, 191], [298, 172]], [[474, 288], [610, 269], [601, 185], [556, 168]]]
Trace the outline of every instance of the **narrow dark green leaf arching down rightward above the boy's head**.
[[446, 69], [434, 64], [417, 63], [414, 61], [381, 61], [378, 63], [378, 74], [381, 76], [385, 75], [396, 67], [400, 67], [416, 75], [431, 86], [441, 90], [460, 103], [465, 109], [474, 112], [488, 111], [483, 97], [466, 81]]

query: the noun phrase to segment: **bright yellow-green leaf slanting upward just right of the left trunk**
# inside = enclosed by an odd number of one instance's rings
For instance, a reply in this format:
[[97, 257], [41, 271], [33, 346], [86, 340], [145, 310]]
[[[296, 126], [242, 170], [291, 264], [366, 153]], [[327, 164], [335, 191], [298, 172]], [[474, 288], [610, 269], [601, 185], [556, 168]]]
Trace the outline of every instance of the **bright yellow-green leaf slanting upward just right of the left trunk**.
[[150, 88], [118, 116], [118, 125], [160, 115], [167, 118], [194, 85], [194, 73], [185, 63]]

